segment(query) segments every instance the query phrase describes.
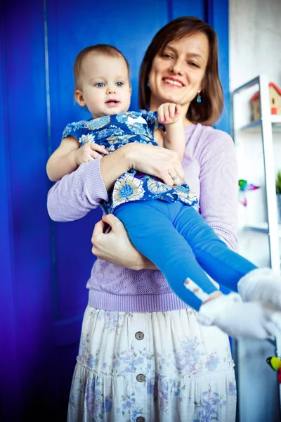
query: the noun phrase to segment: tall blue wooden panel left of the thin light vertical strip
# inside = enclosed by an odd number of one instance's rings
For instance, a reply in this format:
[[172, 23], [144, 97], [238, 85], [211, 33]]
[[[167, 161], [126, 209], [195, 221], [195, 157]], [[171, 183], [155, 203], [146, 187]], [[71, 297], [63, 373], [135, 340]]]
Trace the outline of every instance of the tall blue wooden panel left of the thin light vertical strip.
[[[13, 248], [10, 260], [13, 302], [10, 301], [10, 305], [15, 315], [18, 366], [13, 367], [10, 359], [10, 365], [7, 361], [2, 361], [2, 365], [7, 365], [11, 373], [17, 372], [22, 386], [21, 397], [15, 390], [9, 419], [5, 420], [20, 421], [13, 413], [20, 402], [24, 404], [21, 416], [25, 420], [32, 421], [37, 406], [51, 420], [56, 407], [56, 383], [52, 374], [55, 355], [51, 224], [46, 212], [48, 155], [43, 4], [36, 0], [27, 4], [10, 1], [2, 13], [5, 63], [1, 82], [5, 82], [7, 96], [5, 155], [11, 219], [7, 229], [13, 229], [9, 232]], [[5, 377], [5, 382], [8, 379]], [[46, 402], [44, 397], [51, 394], [51, 402]]]

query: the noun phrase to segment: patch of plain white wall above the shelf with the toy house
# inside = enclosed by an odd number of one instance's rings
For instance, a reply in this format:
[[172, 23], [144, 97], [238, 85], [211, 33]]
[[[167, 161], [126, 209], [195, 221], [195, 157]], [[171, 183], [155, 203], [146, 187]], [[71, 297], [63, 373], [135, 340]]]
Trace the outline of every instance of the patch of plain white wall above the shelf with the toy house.
[[230, 0], [230, 91], [260, 73], [281, 86], [281, 1]]

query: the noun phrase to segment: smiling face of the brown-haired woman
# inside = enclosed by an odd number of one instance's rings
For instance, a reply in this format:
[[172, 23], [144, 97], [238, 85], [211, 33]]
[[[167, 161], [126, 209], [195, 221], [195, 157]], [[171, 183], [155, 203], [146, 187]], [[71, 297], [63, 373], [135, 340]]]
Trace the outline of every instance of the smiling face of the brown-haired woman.
[[170, 41], [152, 61], [150, 110], [170, 102], [180, 104], [186, 115], [190, 102], [202, 89], [208, 58], [209, 40], [203, 32]]

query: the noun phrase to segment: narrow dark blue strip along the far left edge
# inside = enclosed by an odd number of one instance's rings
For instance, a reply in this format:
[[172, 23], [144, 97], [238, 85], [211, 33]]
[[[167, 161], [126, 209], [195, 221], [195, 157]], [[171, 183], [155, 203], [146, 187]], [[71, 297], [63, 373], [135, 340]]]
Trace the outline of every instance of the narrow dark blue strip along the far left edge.
[[[15, 286], [13, 284], [13, 232], [11, 222], [10, 166], [6, 142], [8, 132], [6, 74], [4, 62], [4, 16], [0, 14], [0, 409], [1, 419], [10, 421], [14, 406], [14, 397], [21, 396], [20, 357], [18, 355], [18, 338], [16, 331]], [[15, 419], [20, 420], [21, 403], [14, 409]]]

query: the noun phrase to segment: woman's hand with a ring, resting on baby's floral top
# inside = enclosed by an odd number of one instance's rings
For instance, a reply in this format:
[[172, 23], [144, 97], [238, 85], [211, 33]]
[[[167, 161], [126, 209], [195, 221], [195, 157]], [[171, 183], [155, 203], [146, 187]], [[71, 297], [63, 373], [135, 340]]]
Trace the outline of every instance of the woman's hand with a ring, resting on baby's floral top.
[[[185, 178], [183, 167], [175, 151], [142, 143], [130, 143], [123, 148], [126, 147], [129, 169], [158, 177], [169, 186], [181, 184], [181, 179]], [[179, 177], [175, 178], [176, 176]]]

